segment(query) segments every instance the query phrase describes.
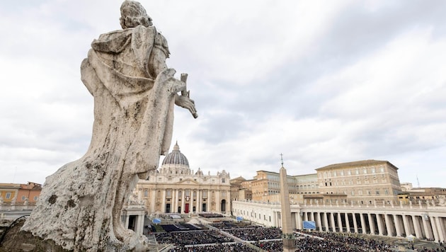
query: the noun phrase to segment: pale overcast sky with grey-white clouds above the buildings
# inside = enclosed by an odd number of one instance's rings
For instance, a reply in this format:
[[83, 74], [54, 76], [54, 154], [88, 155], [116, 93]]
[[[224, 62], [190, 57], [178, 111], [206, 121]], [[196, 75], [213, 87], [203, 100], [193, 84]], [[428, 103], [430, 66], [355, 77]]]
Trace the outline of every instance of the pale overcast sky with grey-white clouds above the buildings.
[[[43, 183], [88, 148], [91, 41], [120, 0], [0, 3], [0, 183]], [[190, 168], [250, 179], [362, 159], [446, 187], [446, 1], [141, 1], [189, 74]], [[172, 144], [172, 146], [173, 146]]]

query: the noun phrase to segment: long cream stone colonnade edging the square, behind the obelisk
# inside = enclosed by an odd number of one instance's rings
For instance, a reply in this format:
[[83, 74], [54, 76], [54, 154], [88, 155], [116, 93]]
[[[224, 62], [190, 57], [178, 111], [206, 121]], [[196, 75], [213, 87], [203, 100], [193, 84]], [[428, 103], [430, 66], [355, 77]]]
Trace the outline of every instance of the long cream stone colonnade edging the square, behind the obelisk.
[[[265, 226], [282, 226], [277, 203], [233, 201], [232, 211]], [[302, 229], [304, 221], [314, 222], [319, 231], [446, 241], [446, 206], [291, 205], [292, 226]]]

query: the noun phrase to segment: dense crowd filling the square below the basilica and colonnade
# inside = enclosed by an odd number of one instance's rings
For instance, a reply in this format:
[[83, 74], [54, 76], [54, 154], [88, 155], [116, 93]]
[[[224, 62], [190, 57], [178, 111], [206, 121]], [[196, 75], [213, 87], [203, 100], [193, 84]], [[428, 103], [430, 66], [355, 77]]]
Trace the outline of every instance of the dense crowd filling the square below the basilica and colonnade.
[[[200, 231], [171, 231], [155, 233], [156, 241], [160, 244], [174, 244], [169, 252], [201, 252], [201, 251], [255, 251], [257, 246], [265, 251], [282, 251], [282, 231], [275, 227], [254, 226], [249, 223], [220, 222], [212, 223], [212, 227], [219, 230]], [[184, 224], [183, 224], [184, 226]], [[231, 237], [246, 241], [236, 243]], [[248, 244], [248, 242], [253, 242]], [[395, 251], [396, 244], [388, 244], [382, 240], [355, 234], [342, 234], [322, 231], [295, 230], [295, 251], [345, 251], [345, 252], [390, 252]], [[409, 244], [409, 249], [414, 247]], [[423, 252], [446, 251], [440, 248], [418, 248]]]

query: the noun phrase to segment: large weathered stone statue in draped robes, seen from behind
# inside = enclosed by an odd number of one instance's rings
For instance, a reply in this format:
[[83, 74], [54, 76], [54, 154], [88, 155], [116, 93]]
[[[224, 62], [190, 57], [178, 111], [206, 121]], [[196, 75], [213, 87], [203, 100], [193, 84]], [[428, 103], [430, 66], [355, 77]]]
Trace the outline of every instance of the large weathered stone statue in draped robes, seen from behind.
[[93, 40], [81, 64], [94, 97], [90, 147], [47, 177], [22, 228], [69, 250], [144, 251], [146, 237], [122, 226], [122, 207], [138, 178], [147, 178], [168, 153], [173, 105], [198, 116], [186, 75], [175, 79], [166, 66], [166, 38], [144, 8], [124, 1], [120, 11], [123, 30]]

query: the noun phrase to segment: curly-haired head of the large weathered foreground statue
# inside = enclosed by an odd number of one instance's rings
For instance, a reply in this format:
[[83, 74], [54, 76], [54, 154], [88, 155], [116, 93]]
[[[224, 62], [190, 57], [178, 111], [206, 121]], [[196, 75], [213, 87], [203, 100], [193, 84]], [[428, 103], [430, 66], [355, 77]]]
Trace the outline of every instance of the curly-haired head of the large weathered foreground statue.
[[149, 27], [152, 25], [151, 17], [147, 15], [145, 8], [137, 1], [125, 0], [121, 5], [121, 17], [119, 18], [122, 29], [134, 28], [138, 25]]

